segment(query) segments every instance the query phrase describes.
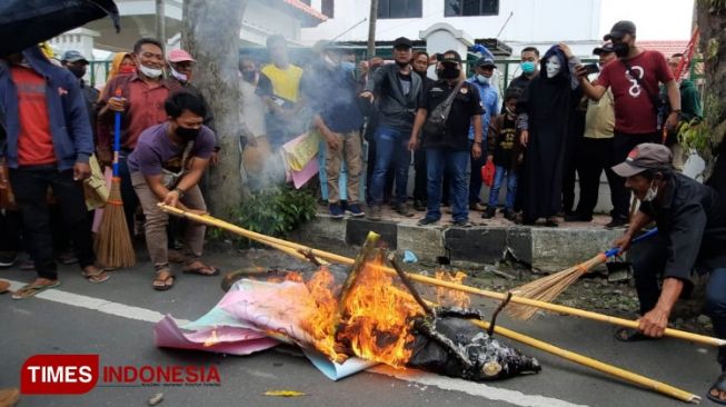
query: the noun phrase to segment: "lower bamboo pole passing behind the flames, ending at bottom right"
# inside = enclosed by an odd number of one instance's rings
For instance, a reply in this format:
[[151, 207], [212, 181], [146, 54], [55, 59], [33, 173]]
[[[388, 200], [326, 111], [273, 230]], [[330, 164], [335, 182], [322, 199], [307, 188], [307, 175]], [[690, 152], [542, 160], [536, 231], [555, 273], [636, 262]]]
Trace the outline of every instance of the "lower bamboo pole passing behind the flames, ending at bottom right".
[[[275, 249], [278, 249], [278, 250], [280, 250], [280, 251], [282, 251], [282, 252], [285, 252], [285, 254], [287, 254], [289, 256], [292, 256], [292, 257], [295, 257], [297, 259], [310, 260], [309, 257], [305, 256], [302, 252], [300, 252], [298, 250], [290, 249], [287, 246], [281, 246], [281, 245], [274, 244], [274, 242], [267, 242], [267, 245], [275, 248]], [[405, 274], [405, 275], [407, 277], [411, 276], [410, 274]], [[478, 326], [480, 328], [484, 328], [486, 330], [488, 330], [490, 328], [489, 322], [486, 322], [486, 321], [483, 321], [483, 320], [479, 320], [479, 319], [470, 319], [470, 321], [474, 325], [476, 325], [476, 326]], [[625, 381], [628, 381], [628, 383], [631, 383], [631, 384], [635, 384], [635, 385], [638, 385], [638, 386], [643, 386], [643, 387], [652, 389], [652, 390], [654, 390], [656, 393], [664, 394], [664, 395], [666, 395], [668, 397], [673, 397], [673, 398], [676, 398], [678, 400], [686, 401], [686, 403], [695, 403], [695, 404], [700, 403], [700, 397], [698, 397], [698, 396], [696, 396], [694, 394], [690, 394], [688, 391], [678, 389], [678, 388], [673, 387], [670, 385], [667, 385], [667, 384], [650, 379], [648, 377], [645, 377], [645, 376], [642, 376], [642, 375], [638, 375], [638, 374], [634, 374], [631, 371], [625, 370], [625, 369], [619, 368], [617, 366], [608, 365], [608, 364], [605, 364], [605, 363], [599, 361], [597, 359], [593, 359], [593, 358], [589, 358], [587, 356], [583, 356], [583, 355], [576, 354], [574, 351], [569, 351], [567, 349], [559, 348], [559, 347], [554, 346], [551, 344], [548, 344], [546, 341], [543, 341], [543, 340], [539, 340], [539, 339], [536, 339], [536, 338], [519, 334], [519, 332], [514, 331], [511, 329], [504, 328], [500, 325], [495, 326], [494, 331], [496, 334], [501, 335], [504, 337], [507, 337], [509, 339], [513, 339], [513, 340], [516, 340], [518, 343], [528, 345], [528, 346], [530, 346], [530, 347], [533, 347], [535, 349], [539, 349], [541, 351], [546, 351], [548, 354], [558, 356], [558, 357], [560, 357], [563, 359], [567, 359], [567, 360], [573, 361], [575, 364], [578, 364], [578, 365], [581, 365], [581, 366], [585, 366], [585, 367], [589, 367], [591, 369], [601, 371], [601, 373], [610, 375], [610, 376], [615, 376], [615, 377], [620, 378], [620, 379], [623, 379]]]

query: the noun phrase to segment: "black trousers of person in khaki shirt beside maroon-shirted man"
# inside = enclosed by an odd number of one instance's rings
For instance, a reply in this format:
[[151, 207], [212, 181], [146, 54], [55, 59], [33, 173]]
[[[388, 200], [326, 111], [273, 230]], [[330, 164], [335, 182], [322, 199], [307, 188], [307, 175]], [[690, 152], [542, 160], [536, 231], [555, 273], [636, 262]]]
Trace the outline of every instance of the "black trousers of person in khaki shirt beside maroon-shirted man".
[[[613, 138], [583, 138], [579, 143], [577, 173], [579, 175], [580, 192], [576, 212], [583, 217], [590, 218], [597, 205], [603, 170], [605, 170], [610, 190], [616, 182], [619, 182], [620, 178], [610, 169], [613, 167]], [[610, 201], [615, 207], [614, 195], [610, 195]]]

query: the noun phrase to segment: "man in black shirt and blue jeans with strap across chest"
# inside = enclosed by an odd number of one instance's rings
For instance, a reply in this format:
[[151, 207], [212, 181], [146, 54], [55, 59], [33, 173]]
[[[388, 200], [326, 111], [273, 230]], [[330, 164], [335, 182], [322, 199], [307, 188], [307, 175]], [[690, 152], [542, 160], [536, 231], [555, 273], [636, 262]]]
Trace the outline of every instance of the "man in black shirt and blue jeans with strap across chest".
[[[409, 149], [418, 147], [418, 135], [424, 129], [426, 148], [427, 205], [426, 217], [419, 225], [430, 225], [441, 218], [441, 180], [444, 169], [451, 176], [451, 211], [454, 224], [470, 227], [468, 206], [468, 181], [466, 170], [469, 163], [469, 127], [474, 125], [471, 155], [481, 156], [481, 101], [479, 92], [471, 83], [464, 81], [461, 57], [456, 51], [446, 51], [438, 70], [439, 80], [424, 93], [421, 107], [416, 112]], [[461, 83], [463, 82], [463, 83]], [[458, 90], [457, 90], [458, 89]], [[457, 91], [451, 102], [444, 131], [431, 132], [424, 127], [426, 119], [440, 103], [445, 103], [452, 91]]]

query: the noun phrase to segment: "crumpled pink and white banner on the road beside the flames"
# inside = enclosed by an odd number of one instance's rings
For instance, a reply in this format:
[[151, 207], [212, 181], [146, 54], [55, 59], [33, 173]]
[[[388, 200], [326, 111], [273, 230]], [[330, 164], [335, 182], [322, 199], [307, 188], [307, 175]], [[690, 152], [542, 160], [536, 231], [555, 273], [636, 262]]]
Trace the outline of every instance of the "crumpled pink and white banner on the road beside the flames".
[[195, 349], [230, 355], [250, 355], [280, 343], [296, 344], [331, 380], [365, 370], [376, 363], [349, 358], [329, 360], [312, 349], [301, 328], [302, 307], [310, 292], [301, 282], [237, 281], [209, 312], [185, 326], [166, 316], [155, 326], [158, 347]]

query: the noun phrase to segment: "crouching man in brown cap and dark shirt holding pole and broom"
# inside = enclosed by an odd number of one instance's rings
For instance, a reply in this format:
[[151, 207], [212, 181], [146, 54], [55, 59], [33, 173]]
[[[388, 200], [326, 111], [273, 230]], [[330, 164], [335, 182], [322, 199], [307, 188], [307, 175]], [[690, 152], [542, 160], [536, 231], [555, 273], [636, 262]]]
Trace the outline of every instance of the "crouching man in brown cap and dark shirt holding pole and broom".
[[[694, 270], [709, 275], [704, 309], [714, 324], [714, 334], [726, 338], [726, 206], [713, 188], [675, 172], [672, 160], [667, 147], [642, 143], [613, 167], [640, 200], [640, 209], [615, 246], [627, 250], [643, 227], [650, 221], [658, 227], [656, 236], [630, 252], [643, 317], [637, 330], [616, 331], [615, 337], [623, 341], [662, 337], [674, 305], [693, 290]], [[726, 349], [719, 348], [717, 360], [723, 373], [707, 397], [726, 404]]]

